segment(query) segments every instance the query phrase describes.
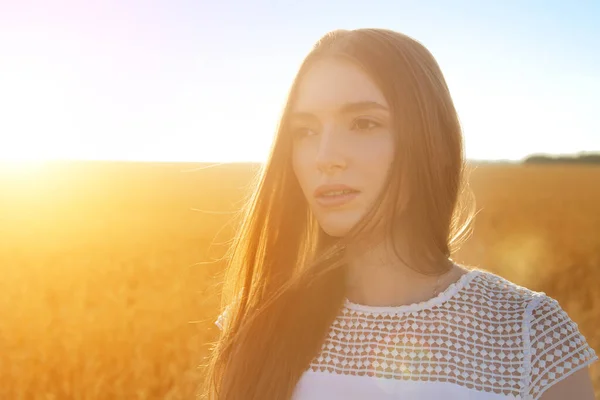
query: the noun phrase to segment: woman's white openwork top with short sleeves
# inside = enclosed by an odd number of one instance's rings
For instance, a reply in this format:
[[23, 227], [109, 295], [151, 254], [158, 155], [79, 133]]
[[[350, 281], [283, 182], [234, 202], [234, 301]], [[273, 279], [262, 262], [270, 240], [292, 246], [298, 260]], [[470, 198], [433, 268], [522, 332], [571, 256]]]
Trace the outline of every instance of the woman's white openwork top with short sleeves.
[[556, 300], [474, 269], [421, 303], [346, 299], [293, 400], [539, 399], [596, 360]]

